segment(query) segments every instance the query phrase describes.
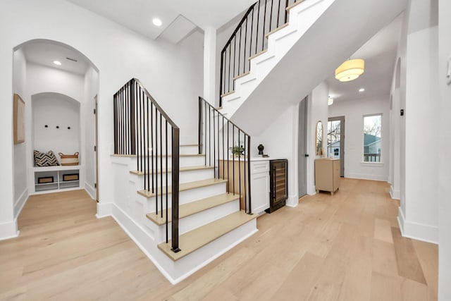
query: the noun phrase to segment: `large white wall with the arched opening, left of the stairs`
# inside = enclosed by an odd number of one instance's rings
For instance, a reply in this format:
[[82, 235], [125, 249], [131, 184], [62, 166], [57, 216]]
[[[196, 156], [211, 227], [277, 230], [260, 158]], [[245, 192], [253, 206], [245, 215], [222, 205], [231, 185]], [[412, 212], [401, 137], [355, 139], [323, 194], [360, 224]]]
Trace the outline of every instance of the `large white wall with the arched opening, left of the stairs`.
[[[67, 12], [70, 11], [70, 14]], [[17, 22], [17, 16], [23, 16]], [[62, 17], [63, 16], [63, 17]], [[113, 94], [130, 78], [139, 78], [180, 126], [186, 140], [197, 137], [197, 96], [202, 94], [202, 43], [199, 32], [177, 45], [154, 42], [67, 1], [2, 1], [0, 11], [0, 139], [12, 145], [13, 48], [32, 39], [51, 39], [85, 54], [99, 69], [100, 205], [114, 202], [110, 150], [113, 145]], [[82, 78], [83, 81], [83, 78]], [[29, 92], [32, 94], [32, 91]], [[84, 95], [81, 90], [82, 97]], [[69, 95], [70, 96], [70, 95]], [[77, 97], [73, 97], [77, 99]], [[182, 140], [183, 141], [183, 140]], [[0, 223], [11, 223], [13, 147], [0, 150]]]

